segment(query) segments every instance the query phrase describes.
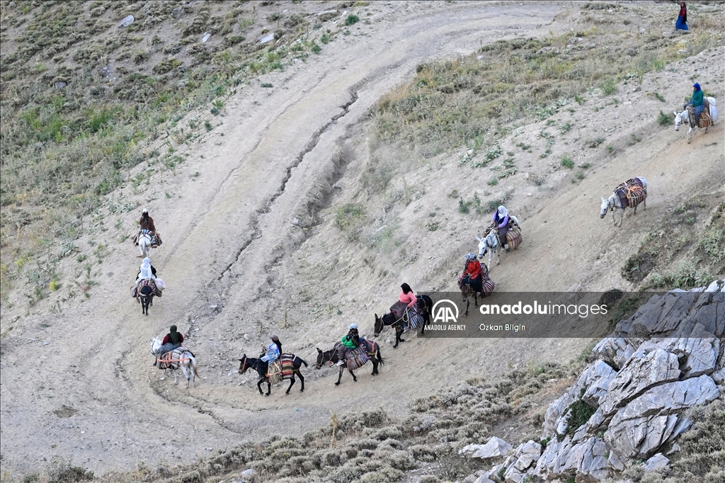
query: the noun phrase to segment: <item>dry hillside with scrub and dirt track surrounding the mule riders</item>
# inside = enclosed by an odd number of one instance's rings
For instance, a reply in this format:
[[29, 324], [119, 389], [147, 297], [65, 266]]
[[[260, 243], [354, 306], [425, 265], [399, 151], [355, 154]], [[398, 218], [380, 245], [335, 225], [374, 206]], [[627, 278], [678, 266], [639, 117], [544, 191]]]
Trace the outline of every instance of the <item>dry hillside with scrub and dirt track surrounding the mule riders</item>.
[[[3, 0], [2, 481], [434, 483], [479, 469], [456, 456], [468, 442], [536, 434], [592, 341], [407, 335], [393, 350], [384, 332], [380, 376], [340, 387], [315, 348], [351, 322], [371, 334], [402, 281], [455, 290], [500, 203], [524, 243], [492, 265], [499, 291], [724, 274], [723, 123], [687, 144], [671, 111], [693, 81], [725, 99], [725, 12], [689, 4], [689, 33], [675, 15]], [[632, 176], [647, 210], [616, 228], [600, 196]], [[128, 297], [141, 207], [169, 286], [148, 317]], [[170, 323], [199, 358], [188, 390], [151, 367]], [[270, 334], [310, 363], [304, 393], [260, 397], [236, 373]], [[694, 417], [706, 432], [721, 412]]]

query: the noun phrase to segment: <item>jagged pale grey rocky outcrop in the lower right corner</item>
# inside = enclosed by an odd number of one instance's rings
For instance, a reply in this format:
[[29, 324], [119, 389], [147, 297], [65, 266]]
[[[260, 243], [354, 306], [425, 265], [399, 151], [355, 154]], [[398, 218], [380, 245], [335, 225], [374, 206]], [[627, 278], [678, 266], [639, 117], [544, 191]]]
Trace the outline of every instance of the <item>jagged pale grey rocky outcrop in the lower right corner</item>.
[[523, 443], [486, 479], [597, 482], [636, 461], [667, 466], [663, 446], [692, 425], [685, 410], [723, 395], [724, 348], [725, 281], [652, 297], [597, 344], [593, 362], [549, 406], [544, 449]]

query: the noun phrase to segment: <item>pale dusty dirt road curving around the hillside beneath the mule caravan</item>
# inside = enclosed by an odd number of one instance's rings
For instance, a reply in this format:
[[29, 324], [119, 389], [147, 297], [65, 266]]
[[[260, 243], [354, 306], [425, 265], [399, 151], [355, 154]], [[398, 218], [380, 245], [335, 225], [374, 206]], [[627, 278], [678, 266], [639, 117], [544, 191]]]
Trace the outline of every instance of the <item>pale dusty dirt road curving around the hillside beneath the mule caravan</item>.
[[[421, 231], [414, 223], [400, 228], [415, 257], [396, 273], [391, 269], [400, 265], [385, 253], [363, 257], [344, 241], [328, 207], [360, 189], [370, 155], [368, 110], [418, 63], [469, 54], [497, 38], [557, 31], [564, 26], [551, 22], [559, 11], [557, 4], [380, 5], [370, 25], [341, 36], [323, 55], [260, 78], [273, 88], [241, 88], [228, 102], [223, 125], [187, 149], [175, 174], [157, 175], [138, 194], [128, 187], [114, 195], [148, 206], [164, 236], [152, 261], [169, 288], [151, 315], [141, 316], [128, 297], [136, 252], [128, 241], [117, 244], [99, 232], [96, 239], [109, 243], [112, 253], [94, 269], [99, 285], [91, 297], [70, 300], [62, 313], [30, 313], [22, 332], [3, 342], [3, 467], [22, 474], [53, 455], [101, 473], [138, 461], [188, 462], [274, 433], [302, 434], [326, 424], [331, 413], [383, 407], [400, 415], [415, 397], [469, 374], [495, 377], [513, 366], [576, 355], [588, 341], [411, 337], [394, 351], [386, 334], [380, 376], [362, 371], [357, 383], [346, 375], [334, 387], [336, 371], [313, 368], [315, 347], [331, 347], [348, 323], [370, 334], [373, 313], [394, 301], [400, 281], [421, 292], [454, 289], [452, 272], [473, 248], [468, 240], [476, 227], [455, 213], [445, 230]], [[722, 83], [722, 66], [707, 68], [703, 75]], [[687, 83], [676, 78], [647, 82], [687, 94]], [[647, 102], [642, 96], [639, 104], [622, 107], [621, 117]], [[573, 119], [591, 129], [595, 113], [581, 110]], [[597, 126], [614, 122], [607, 119], [597, 119]], [[598, 160], [600, 167], [576, 186], [552, 179], [551, 189], [529, 188], [536, 194], [527, 197], [522, 182], [510, 210], [521, 213], [525, 243], [492, 270], [497, 289], [626, 288], [619, 268], [654, 220], [692, 186], [713, 193], [721, 188], [722, 126], [697, 132], [689, 146], [682, 133], [654, 131], [621, 155]], [[626, 125], [619, 129], [629, 136]], [[453, 162], [436, 177], [411, 173], [411, 183], [433, 186], [397, 216], [414, 219], [417, 204], [450, 204], [446, 192], [456, 186], [457, 169]], [[481, 186], [487, 179], [485, 173], [465, 176]], [[630, 176], [650, 180], [647, 210], [615, 228], [598, 216], [600, 195]], [[331, 188], [335, 183], [341, 189]], [[123, 215], [129, 230], [136, 211]], [[385, 213], [376, 219], [380, 226], [389, 222]], [[571, 223], [576, 229], [563, 230]], [[151, 366], [149, 337], [171, 323], [188, 334], [199, 357], [204, 379], [188, 390], [159, 381]], [[236, 373], [236, 359], [257, 355], [273, 333], [286, 351], [310, 363], [304, 393], [298, 381], [289, 396], [275, 387], [271, 397], [260, 397], [256, 378]]]

